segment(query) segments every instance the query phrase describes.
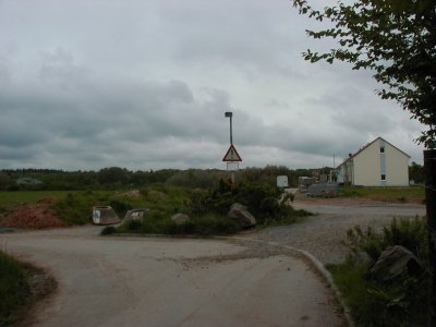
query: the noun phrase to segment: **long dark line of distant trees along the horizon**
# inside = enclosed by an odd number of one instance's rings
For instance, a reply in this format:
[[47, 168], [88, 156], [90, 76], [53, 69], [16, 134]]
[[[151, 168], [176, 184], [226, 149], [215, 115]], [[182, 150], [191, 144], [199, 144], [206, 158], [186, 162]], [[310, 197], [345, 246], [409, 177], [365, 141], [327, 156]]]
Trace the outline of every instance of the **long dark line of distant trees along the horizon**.
[[[302, 175], [312, 175], [318, 169], [291, 170], [284, 166], [245, 168], [238, 173], [240, 182], [262, 182], [276, 184], [277, 175], [287, 175], [291, 186], [298, 185]], [[324, 171], [324, 170], [323, 170]], [[328, 172], [328, 169], [325, 169]], [[215, 189], [218, 181], [227, 178], [227, 171], [218, 169], [161, 169], [130, 171], [110, 167], [99, 171], [62, 171], [50, 169], [0, 170], [0, 190], [3, 191], [98, 191], [144, 189], [155, 184], [186, 189]], [[38, 181], [32, 183], [22, 181]]]

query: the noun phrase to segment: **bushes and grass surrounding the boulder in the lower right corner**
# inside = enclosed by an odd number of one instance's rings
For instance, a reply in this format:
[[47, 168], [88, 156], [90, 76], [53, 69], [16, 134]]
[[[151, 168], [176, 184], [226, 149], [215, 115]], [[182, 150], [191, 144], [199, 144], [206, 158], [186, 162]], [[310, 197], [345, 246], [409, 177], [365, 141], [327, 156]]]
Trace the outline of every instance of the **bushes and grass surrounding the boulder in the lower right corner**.
[[[359, 227], [348, 231], [351, 250], [343, 264], [328, 269], [351, 310], [358, 326], [426, 326], [429, 274], [427, 231], [423, 219], [393, 219], [382, 232]], [[413, 252], [423, 266], [422, 276], [404, 272], [391, 281], [377, 281], [371, 265], [359, 261], [360, 253], [377, 259], [388, 246], [402, 245]]]

